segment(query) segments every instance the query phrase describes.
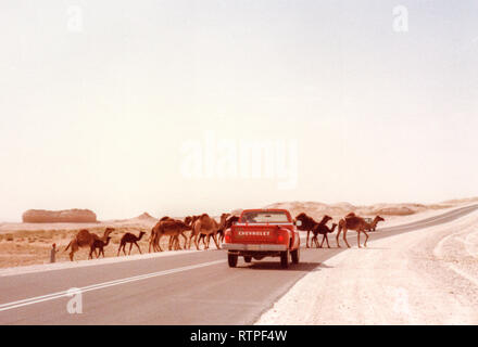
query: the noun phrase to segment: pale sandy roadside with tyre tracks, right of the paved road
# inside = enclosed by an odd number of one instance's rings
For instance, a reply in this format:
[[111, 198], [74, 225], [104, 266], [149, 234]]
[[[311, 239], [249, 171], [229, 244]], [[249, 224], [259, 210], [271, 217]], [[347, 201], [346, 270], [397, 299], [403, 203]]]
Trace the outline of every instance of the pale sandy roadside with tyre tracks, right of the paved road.
[[478, 213], [328, 259], [256, 324], [477, 324]]

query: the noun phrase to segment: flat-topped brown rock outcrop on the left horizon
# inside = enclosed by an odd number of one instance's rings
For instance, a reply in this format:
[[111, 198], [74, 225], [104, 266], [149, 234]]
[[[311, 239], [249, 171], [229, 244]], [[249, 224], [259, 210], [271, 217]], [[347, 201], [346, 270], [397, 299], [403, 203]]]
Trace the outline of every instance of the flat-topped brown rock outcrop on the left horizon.
[[28, 209], [22, 216], [24, 223], [91, 223], [97, 215], [89, 209], [45, 210]]

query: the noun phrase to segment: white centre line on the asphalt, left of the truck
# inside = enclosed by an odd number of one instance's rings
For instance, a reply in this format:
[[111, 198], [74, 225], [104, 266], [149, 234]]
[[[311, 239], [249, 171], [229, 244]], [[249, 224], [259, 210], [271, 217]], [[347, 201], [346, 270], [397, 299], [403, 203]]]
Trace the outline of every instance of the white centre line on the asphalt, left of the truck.
[[[114, 285], [120, 285], [120, 284], [124, 284], [124, 283], [151, 279], [151, 278], [160, 277], [160, 275], [166, 275], [166, 274], [171, 274], [171, 273], [177, 273], [177, 272], [188, 271], [188, 270], [192, 270], [192, 269], [203, 268], [203, 267], [207, 267], [207, 266], [212, 266], [212, 265], [216, 265], [216, 264], [222, 264], [222, 262], [226, 262], [226, 260], [215, 260], [215, 261], [210, 261], [210, 262], [202, 262], [202, 264], [198, 264], [198, 265], [187, 266], [187, 267], [183, 267], [183, 268], [176, 268], [176, 269], [163, 270], [163, 271], [158, 271], [158, 272], [152, 272], [152, 273], [147, 273], [147, 274], [140, 274], [140, 275], [135, 275], [135, 277], [130, 277], [130, 278], [126, 278], [126, 279], [92, 284], [92, 285], [79, 287], [78, 290], [81, 293], [85, 293], [85, 292], [101, 290], [101, 288], [105, 288], [105, 287], [114, 286]], [[0, 312], [11, 310], [14, 308], [18, 308], [18, 307], [23, 307], [23, 306], [27, 306], [27, 305], [34, 305], [34, 304], [38, 304], [38, 303], [42, 303], [42, 301], [54, 300], [54, 299], [58, 299], [58, 298], [61, 298], [64, 296], [68, 296], [68, 291], [62, 291], [62, 292], [56, 292], [56, 293], [52, 293], [52, 294], [36, 296], [36, 297], [26, 298], [26, 299], [22, 299], [22, 300], [16, 300], [16, 301], [12, 301], [12, 303], [1, 304], [0, 305]]]

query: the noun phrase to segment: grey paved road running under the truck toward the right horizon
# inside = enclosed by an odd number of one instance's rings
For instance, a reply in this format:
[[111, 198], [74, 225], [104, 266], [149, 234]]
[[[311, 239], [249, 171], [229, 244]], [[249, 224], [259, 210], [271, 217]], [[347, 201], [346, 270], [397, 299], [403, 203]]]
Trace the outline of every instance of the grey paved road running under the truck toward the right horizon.
[[[450, 222], [478, 209], [379, 229], [370, 240]], [[349, 243], [355, 244], [355, 232]], [[336, 245], [335, 240], [331, 245]], [[278, 258], [229, 269], [224, 250], [209, 250], [0, 277], [0, 324], [251, 324], [310, 271], [345, 248], [301, 249], [301, 264]], [[366, 252], [366, 250], [365, 250]], [[83, 292], [83, 313], [67, 312], [68, 288]]]

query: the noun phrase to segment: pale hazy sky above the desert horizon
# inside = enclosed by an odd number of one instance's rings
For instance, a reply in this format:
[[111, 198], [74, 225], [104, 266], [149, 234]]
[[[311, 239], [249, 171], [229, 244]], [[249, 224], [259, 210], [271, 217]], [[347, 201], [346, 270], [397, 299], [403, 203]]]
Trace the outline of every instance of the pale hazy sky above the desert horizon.
[[[2, 0], [0, 42], [0, 220], [478, 195], [475, 0]], [[291, 152], [185, 175], [212, 138]]]

